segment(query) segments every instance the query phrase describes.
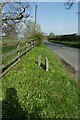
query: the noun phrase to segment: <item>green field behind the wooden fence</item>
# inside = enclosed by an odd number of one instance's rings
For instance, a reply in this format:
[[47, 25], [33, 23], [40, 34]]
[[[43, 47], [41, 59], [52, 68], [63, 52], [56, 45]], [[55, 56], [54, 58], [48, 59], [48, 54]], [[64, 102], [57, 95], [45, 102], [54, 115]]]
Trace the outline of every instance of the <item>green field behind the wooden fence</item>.
[[[9, 61], [11, 61], [11, 60], [13, 60], [14, 58], [16, 58], [17, 57], [17, 42], [19, 42], [20, 43], [20, 49], [22, 48], [22, 47], [25, 47], [25, 40], [3, 40], [3, 45], [2, 45], [2, 47], [0, 47], [1, 48], [1, 52], [2, 52], [2, 55], [3, 55], [3, 57], [2, 57], [2, 63], [4, 64], [4, 65], [6, 65]], [[20, 53], [22, 53], [22, 52], [24, 52], [25, 50], [23, 49], [23, 50], [21, 50], [20, 51]], [[12, 54], [10, 54], [10, 55], [7, 55], [6, 56], [6, 54], [8, 54], [8, 53], [11, 53], [12, 52]]]

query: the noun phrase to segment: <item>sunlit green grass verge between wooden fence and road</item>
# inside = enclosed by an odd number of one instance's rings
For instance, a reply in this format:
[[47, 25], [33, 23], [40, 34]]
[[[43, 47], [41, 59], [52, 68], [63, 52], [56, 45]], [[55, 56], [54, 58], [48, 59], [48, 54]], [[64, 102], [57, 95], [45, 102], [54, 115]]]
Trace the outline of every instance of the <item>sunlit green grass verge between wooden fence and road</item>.
[[[48, 72], [44, 69], [45, 57], [49, 59]], [[34, 48], [3, 77], [2, 92], [3, 118], [78, 118], [77, 82], [43, 45]]]

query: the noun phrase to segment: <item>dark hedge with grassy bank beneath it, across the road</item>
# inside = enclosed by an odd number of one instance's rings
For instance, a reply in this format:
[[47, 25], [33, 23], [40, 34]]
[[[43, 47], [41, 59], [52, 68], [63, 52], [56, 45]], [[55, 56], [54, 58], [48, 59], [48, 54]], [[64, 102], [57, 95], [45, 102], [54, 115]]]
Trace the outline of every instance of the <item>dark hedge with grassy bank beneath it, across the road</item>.
[[62, 35], [57, 36], [53, 33], [50, 33], [48, 40], [53, 43], [64, 44], [70, 47], [80, 48], [80, 36], [72, 35]]

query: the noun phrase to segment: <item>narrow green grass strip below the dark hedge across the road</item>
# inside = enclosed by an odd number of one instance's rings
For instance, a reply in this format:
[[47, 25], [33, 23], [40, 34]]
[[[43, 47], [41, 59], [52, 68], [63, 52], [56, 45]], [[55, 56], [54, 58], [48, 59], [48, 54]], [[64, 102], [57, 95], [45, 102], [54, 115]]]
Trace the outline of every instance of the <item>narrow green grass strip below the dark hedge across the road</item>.
[[80, 48], [80, 42], [78, 41], [58, 41], [58, 40], [49, 40], [49, 41], [53, 43], [64, 44], [74, 48]]

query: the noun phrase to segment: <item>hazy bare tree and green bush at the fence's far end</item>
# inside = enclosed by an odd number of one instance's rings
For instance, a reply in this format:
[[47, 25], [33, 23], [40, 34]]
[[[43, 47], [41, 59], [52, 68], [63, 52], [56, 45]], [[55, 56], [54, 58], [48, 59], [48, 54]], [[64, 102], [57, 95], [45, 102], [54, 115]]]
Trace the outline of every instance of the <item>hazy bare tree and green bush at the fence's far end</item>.
[[39, 24], [35, 25], [35, 22], [28, 21], [26, 24], [26, 29], [24, 33], [26, 39], [34, 39], [37, 41], [37, 45], [40, 45], [42, 40], [45, 39], [45, 35], [41, 32], [41, 26]]

